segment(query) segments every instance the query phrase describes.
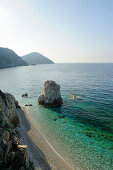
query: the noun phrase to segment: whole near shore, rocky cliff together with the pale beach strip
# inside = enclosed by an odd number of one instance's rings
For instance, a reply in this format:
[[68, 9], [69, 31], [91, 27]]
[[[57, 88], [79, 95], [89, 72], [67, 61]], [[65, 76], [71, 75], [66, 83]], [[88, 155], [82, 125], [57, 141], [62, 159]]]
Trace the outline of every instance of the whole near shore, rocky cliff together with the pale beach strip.
[[35, 127], [26, 108], [0, 91], [0, 169], [73, 170]]

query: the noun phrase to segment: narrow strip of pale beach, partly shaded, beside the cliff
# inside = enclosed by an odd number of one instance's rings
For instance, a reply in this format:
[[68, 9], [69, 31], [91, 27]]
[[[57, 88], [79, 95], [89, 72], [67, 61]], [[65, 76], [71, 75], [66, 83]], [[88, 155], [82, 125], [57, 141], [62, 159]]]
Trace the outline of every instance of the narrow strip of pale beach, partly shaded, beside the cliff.
[[[75, 170], [40, 134], [32, 123], [25, 107], [17, 109], [20, 120], [19, 132], [23, 144], [28, 145], [28, 153], [35, 168], [40, 170]], [[76, 168], [77, 169], [77, 168]]]

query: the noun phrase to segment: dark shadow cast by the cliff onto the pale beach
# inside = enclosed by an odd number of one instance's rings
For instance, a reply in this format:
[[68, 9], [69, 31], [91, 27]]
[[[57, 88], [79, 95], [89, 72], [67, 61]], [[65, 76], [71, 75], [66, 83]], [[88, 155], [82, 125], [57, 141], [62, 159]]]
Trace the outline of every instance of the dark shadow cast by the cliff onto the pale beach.
[[26, 131], [28, 132], [31, 129], [31, 124], [26, 118], [24, 111], [22, 109], [17, 109], [17, 114], [19, 116], [21, 125], [24, 126], [24, 129], [22, 129], [23, 132], [22, 134], [20, 133], [20, 135], [22, 135], [22, 138], [24, 138], [25, 135], [23, 143], [28, 145], [28, 152], [29, 155], [32, 153], [32, 159], [35, 164], [35, 167], [40, 167], [43, 170], [51, 170], [51, 167], [49, 166], [49, 163], [47, 162], [43, 152], [40, 150], [40, 148], [37, 147], [37, 145], [32, 141], [30, 136], [26, 133]]

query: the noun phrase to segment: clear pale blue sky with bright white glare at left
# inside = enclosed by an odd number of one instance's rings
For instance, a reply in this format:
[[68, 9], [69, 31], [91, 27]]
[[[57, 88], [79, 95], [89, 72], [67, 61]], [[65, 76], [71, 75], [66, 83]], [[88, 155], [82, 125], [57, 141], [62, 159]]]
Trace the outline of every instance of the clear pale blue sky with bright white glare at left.
[[111, 63], [113, 0], [0, 0], [0, 46], [56, 63]]

